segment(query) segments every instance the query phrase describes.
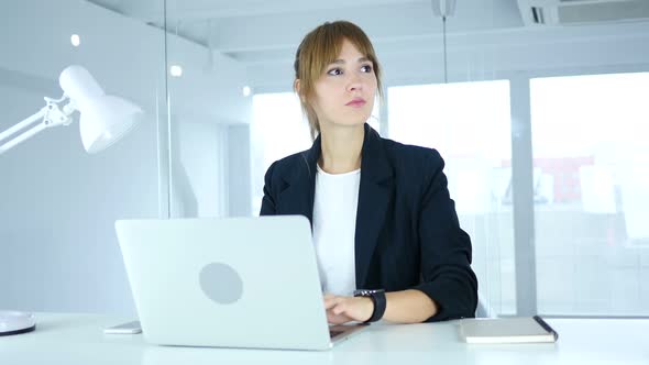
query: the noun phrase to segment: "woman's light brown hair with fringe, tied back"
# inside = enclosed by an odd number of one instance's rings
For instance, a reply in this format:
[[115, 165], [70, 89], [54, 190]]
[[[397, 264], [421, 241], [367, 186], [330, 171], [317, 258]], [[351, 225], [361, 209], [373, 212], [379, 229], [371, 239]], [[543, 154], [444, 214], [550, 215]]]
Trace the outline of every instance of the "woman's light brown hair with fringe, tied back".
[[381, 66], [372, 42], [365, 32], [348, 21], [327, 22], [319, 25], [305, 36], [297, 48], [294, 63], [295, 78], [299, 80], [299, 91], [297, 89], [296, 91], [299, 95], [302, 111], [309, 120], [314, 140], [320, 133], [320, 122], [308, 101], [314, 97], [315, 84], [322, 76], [324, 68], [340, 55], [343, 40], [351, 42], [361, 54], [372, 62], [378, 95], [383, 99]]

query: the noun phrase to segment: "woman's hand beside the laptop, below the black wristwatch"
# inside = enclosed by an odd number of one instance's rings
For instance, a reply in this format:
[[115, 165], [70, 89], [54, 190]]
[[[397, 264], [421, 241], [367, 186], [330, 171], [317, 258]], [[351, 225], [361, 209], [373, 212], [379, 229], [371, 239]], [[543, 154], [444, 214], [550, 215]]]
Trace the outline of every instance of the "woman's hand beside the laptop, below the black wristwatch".
[[327, 321], [331, 324], [342, 324], [350, 321], [364, 322], [372, 317], [374, 303], [367, 297], [340, 297], [332, 294], [324, 295]]

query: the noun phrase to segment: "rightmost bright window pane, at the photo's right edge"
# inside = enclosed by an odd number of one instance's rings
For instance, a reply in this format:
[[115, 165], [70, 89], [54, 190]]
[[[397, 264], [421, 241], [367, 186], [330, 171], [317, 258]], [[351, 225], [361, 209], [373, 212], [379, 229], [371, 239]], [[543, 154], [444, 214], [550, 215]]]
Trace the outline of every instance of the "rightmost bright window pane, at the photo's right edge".
[[649, 73], [530, 80], [538, 310], [649, 313]]

